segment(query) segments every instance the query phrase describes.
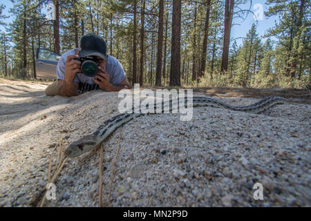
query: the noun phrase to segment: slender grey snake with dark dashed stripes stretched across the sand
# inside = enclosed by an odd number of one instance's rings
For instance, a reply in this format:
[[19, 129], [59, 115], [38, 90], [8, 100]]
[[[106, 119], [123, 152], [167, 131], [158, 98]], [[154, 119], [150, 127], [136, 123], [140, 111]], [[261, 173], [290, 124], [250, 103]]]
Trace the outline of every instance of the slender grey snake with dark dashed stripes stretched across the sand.
[[[185, 104], [187, 104], [187, 97], [185, 97]], [[284, 97], [265, 97], [258, 102], [254, 104], [250, 104], [248, 106], [232, 106], [229, 104], [226, 104], [224, 102], [220, 102], [218, 99], [213, 99], [211, 97], [191, 97], [192, 103], [194, 107], [197, 106], [211, 106], [214, 108], [225, 108], [231, 111], [243, 111], [247, 113], [262, 113], [263, 111], [266, 111], [271, 106], [274, 106], [275, 104], [284, 104], [285, 102], [288, 102], [288, 99]], [[179, 101], [179, 98], [177, 98]], [[175, 100], [176, 101], [176, 100]], [[164, 113], [164, 110], [167, 110], [167, 106], [169, 105], [169, 111], [172, 111], [174, 100], [171, 99], [169, 102], [162, 102], [162, 111], [161, 113]], [[160, 103], [159, 103], [160, 104]], [[154, 104], [154, 108], [156, 108], [157, 104]], [[187, 105], [186, 105], [187, 106]], [[149, 104], [146, 105], [146, 108], [149, 108]], [[154, 109], [153, 109], [154, 110]], [[96, 149], [108, 137], [117, 129], [118, 127], [122, 126], [122, 124], [125, 124], [126, 122], [129, 122], [134, 117], [140, 117], [142, 115], [145, 115], [147, 113], [142, 113], [140, 110], [138, 113], [137, 111], [134, 111], [134, 106], [131, 110], [131, 113], [122, 113], [119, 115], [116, 115], [115, 117], [112, 117], [111, 119], [106, 120], [103, 124], [101, 124], [97, 130], [91, 134], [91, 135], [85, 135], [84, 137], [80, 138], [79, 140], [72, 142], [64, 151], [64, 155], [67, 157], [73, 158], [78, 157], [80, 155], [83, 155], [84, 153], [87, 153], [88, 151], [91, 151], [93, 149]]]

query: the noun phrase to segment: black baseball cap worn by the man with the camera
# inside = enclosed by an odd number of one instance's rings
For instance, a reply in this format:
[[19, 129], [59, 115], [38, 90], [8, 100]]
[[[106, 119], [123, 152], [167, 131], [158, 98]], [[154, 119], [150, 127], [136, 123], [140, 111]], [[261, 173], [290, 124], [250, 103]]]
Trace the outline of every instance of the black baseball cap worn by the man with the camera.
[[79, 46], [79, 57], [97, 56], [105, 61], [108, 60], [106, 42], [94, 33], [83, 35], [79, 41]]

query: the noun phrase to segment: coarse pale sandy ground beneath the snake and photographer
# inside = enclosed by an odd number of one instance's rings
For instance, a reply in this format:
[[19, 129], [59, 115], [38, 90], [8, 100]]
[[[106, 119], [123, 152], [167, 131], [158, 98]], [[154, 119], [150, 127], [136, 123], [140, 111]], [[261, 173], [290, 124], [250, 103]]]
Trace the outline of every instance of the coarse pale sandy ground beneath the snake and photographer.
[[[59, 142], [66, 148], [118, 114], [117, 93], [47, 97], [47, 85], [0, 79], [0, 206], [37, 206]], [[133, 119], [104, 142], [103, 205], [111, 190], [111, 206], [310, 206], [310, 116], [310, 104], [290, 103], [260, 115], [198, 107], [190, 122], [178, 114]], [[68, 159], [57, 200], [44, 205], [98, 206], [99, 163], [98, 150]], [[253, 197], [258, 182], [263, 200]]]

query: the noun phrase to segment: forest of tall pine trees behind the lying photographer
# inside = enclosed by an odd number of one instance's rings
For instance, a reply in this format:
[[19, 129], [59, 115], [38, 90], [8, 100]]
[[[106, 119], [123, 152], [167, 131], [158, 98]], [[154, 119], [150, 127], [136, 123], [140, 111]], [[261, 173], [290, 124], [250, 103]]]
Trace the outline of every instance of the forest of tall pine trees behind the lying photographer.
[[5, 0], [0, 76], [36, 78], [37, 48], [62, 54], [94, 32], [131, 84], [305, 88], [310, 15], [305, 0]]

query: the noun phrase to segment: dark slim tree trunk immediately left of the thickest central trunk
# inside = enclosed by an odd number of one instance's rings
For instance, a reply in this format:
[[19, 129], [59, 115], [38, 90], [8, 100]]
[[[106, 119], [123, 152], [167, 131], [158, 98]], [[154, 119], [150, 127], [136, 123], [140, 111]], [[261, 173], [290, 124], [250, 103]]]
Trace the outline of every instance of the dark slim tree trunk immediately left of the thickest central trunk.
[[157, 68], [156, 68], [156, 86], [161, 86], [162, 71], [162, 48], [163, 48], [163, 14], [164, 0], [159, 2], [159, 23], [158, 23], [158, 51], [157, 51]]

